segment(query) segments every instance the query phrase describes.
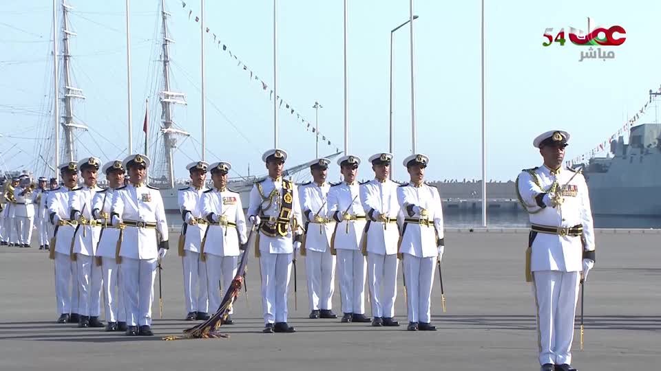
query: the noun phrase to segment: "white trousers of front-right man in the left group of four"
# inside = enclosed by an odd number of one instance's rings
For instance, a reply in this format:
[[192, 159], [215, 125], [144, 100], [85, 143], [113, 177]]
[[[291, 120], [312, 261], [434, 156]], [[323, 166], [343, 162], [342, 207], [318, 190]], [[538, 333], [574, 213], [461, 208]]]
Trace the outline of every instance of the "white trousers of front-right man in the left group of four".
[[157, 265], [156, 259], [122, 258], [127, 326], [151, 326]]

